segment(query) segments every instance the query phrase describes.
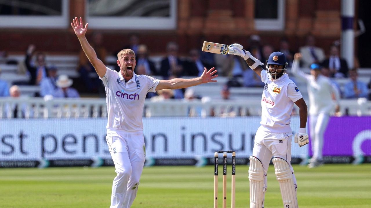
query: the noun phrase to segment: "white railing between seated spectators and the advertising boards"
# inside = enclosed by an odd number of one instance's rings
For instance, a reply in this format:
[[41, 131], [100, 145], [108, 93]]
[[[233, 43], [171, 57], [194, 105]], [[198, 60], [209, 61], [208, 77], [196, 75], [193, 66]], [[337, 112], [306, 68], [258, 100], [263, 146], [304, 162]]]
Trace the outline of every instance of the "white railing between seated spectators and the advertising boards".
[[[371, 101], [341, 100], [341, 114], [371, 115]], [[15, 107], [17, 110], [14, 111]], [[294, 115], [299, 112], [295, 106]], [[348, 111], [348, 112], [346, 112]], [[104, 98], [0, 98], [0, 118], [96, 118], [107, 117]], [[144, 117], [234, 117], [261, 115], [260, 99], [252, 100], [146, 100]]]

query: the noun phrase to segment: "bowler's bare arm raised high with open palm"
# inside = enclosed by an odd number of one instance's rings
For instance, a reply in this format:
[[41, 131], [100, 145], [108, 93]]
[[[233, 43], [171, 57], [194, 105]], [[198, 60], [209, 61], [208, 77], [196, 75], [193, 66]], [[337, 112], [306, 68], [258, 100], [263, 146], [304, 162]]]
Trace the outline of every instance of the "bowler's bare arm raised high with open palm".
[[88, 23], [85, 24], [85, 27], [82, 24], [82, 18], [78, 21], [77, 17], [72, 20], [71, 27], [75, 31], [76, 36], [79, 38], [82, 50], [85, 52], [86, 57], [88, 57], [90, 63], [95, 68], [96, 73], [99, 77], [104, 77], [106, 74], [106, 66], [101, 60], [96, 56], [96, 53], [93, 47], [86, 40], [85, 33], [88, 31]]

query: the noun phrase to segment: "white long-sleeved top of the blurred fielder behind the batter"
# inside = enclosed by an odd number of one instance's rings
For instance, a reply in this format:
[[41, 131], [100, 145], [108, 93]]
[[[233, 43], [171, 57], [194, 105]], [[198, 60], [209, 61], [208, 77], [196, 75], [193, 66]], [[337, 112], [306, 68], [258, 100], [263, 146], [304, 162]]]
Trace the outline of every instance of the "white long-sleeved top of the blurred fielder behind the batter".
[[332, 93], [335, 94], [336, 101], [340, 99], [340, 93], [329, 78], [320, 74], [315, 79], [313, 75], [301, 71], [298, 62], [293, 63], [292, 73], [307, 83], [309, 115], [329, 114], [334, 109], [335, 102], [332, 100]]

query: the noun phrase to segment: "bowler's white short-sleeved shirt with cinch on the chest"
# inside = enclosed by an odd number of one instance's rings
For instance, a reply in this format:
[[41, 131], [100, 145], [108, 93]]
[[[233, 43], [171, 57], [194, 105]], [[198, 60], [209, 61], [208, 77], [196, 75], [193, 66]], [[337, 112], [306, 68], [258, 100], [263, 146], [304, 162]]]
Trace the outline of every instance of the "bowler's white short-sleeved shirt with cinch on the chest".
[[106, 67], [106, 74], [100, 78], [106, 90], [109, 130], [128, 132], [143, 131], [142, 114], [147, 92], [155, 92], [160, 80], [147, 75], [134, 74], [125, 83], [121, 73]]

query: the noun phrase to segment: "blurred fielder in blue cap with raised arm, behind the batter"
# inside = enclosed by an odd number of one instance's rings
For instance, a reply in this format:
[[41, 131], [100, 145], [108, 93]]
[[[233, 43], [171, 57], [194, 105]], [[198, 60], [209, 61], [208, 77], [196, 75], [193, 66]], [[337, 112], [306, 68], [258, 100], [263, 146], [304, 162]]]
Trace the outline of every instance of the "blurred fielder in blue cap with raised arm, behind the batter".
[[[311, 65], [311, 74], [306, 74], [299, 69], [300, 53], [294, 56], [292, 73], [307, 83], [309, 95], [309, 132], [311, 133], [313, 157], [309, 160], [308, 167], [314, 168], [323, 164], [322, 147], [324, 133], [330, 118], [330, 113], [339, 111], [339, 91], [328, 77], [321, 74], [318, 64]], [[335, 100], [335, 102], [334, 102]]]

